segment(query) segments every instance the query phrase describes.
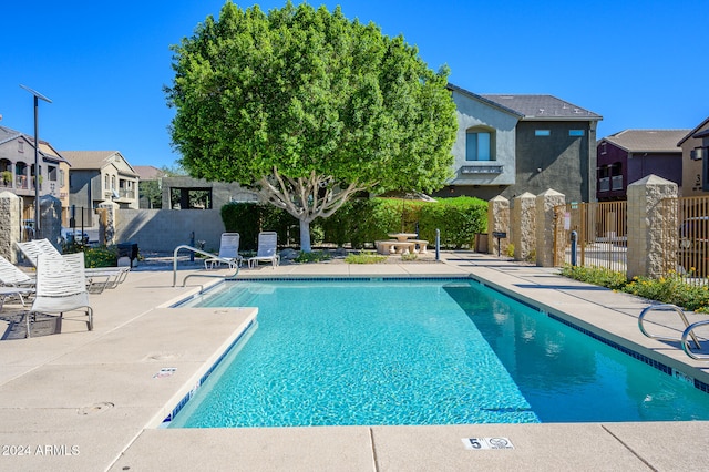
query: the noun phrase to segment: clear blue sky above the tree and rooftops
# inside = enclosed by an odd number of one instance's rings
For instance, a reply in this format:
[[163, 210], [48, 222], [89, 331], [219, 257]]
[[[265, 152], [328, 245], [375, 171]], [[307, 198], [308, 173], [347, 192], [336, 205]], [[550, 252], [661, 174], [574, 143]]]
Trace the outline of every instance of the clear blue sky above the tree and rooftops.
[[[172, 166], [174, 114], [163, 86], [169, 45], [224, 0], [6, 2], [0, 125], [59, 151], [120, 151]], [[282, 1], [235, 2], [280, 8]], [[295, 3], [298, 3], [296, 1]], [[433, 70], [475, 93], [551, 94], [600, 114], [598, 137], [625, 129], [692, 129], [709, 116], [708, 0], [311, 1], [403, 34]]]

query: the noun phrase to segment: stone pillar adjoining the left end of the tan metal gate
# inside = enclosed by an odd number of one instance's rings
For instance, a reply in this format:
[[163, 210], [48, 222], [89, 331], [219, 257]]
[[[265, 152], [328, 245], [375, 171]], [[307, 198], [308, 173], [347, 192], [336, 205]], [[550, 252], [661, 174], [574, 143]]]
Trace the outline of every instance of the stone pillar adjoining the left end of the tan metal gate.
[[[557, 242], [556, 232], [564, 232], [563, 222], [556, 222], [555, 207], [565, 205], [564, 194], [547, 189], [536, 196], [536, 265], [538, 267], [554, 267], [555, 259], [561, 252], [561, 260], [564, 257], [564, 245]], [[561, 226], [561, 228], [558, 228]], [[563, 242], [562, 240], [559, 243]]]

